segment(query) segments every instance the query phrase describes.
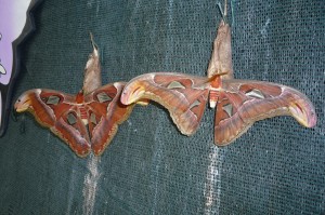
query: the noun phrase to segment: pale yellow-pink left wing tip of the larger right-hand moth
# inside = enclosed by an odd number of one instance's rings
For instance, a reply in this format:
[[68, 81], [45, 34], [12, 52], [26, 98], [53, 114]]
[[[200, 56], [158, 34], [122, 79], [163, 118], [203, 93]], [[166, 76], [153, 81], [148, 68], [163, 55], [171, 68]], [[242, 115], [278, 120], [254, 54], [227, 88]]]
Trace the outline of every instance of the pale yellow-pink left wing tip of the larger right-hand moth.
[[131, 83], [123, 89], [120, 100], [125, 105], [130, 105], [141, 99], [144, 93], [145, 90], [143, 86], [136, 83]]

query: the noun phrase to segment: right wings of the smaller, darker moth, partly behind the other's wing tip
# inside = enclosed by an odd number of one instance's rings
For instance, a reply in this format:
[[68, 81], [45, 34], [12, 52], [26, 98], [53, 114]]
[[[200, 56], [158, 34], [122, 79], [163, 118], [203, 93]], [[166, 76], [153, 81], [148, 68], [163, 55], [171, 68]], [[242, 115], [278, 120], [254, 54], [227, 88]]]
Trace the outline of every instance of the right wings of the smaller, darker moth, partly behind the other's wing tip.
[[115, 136], [118, 125], [128, 119], [133, 105], [120, 103], [122, 82], [104, 85], [84, 98], [89, 116], [91, 147], [100, 156]]

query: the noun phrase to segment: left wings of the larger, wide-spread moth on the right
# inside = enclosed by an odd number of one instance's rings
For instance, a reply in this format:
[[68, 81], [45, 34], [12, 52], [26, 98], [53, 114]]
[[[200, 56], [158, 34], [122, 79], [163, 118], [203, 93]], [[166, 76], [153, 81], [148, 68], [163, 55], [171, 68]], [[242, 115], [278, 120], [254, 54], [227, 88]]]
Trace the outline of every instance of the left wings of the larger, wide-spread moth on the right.
[[126, 85], [121, 102], [152, 99], [166, 107], [179, 130], [195, 133], [208, 99], [208, 78], [157, 72], [139, 76]]

